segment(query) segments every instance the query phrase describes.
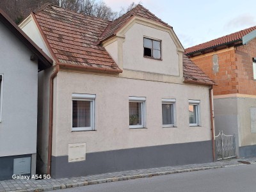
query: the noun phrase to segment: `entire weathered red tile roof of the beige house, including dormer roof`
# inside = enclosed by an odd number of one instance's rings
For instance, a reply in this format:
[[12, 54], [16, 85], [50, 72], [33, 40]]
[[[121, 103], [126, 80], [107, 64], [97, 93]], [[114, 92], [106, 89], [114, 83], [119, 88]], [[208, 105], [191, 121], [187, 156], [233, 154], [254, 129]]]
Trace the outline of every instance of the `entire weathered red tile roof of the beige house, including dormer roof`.
[[[72, 12], [52, 4], [45, 4], [33, 14], [38, 28], [56, 62], [67, 66], [86, 67], [120, 73], [115, 61], [99, 42], [116, 35], [132, 16], [159, 22], [172, 28], [143, 6], [138, 4], [112, 22], [109, 20]], [[187, 83], [214, 84], [200, 68], [184, 56], [184, 78]]]

